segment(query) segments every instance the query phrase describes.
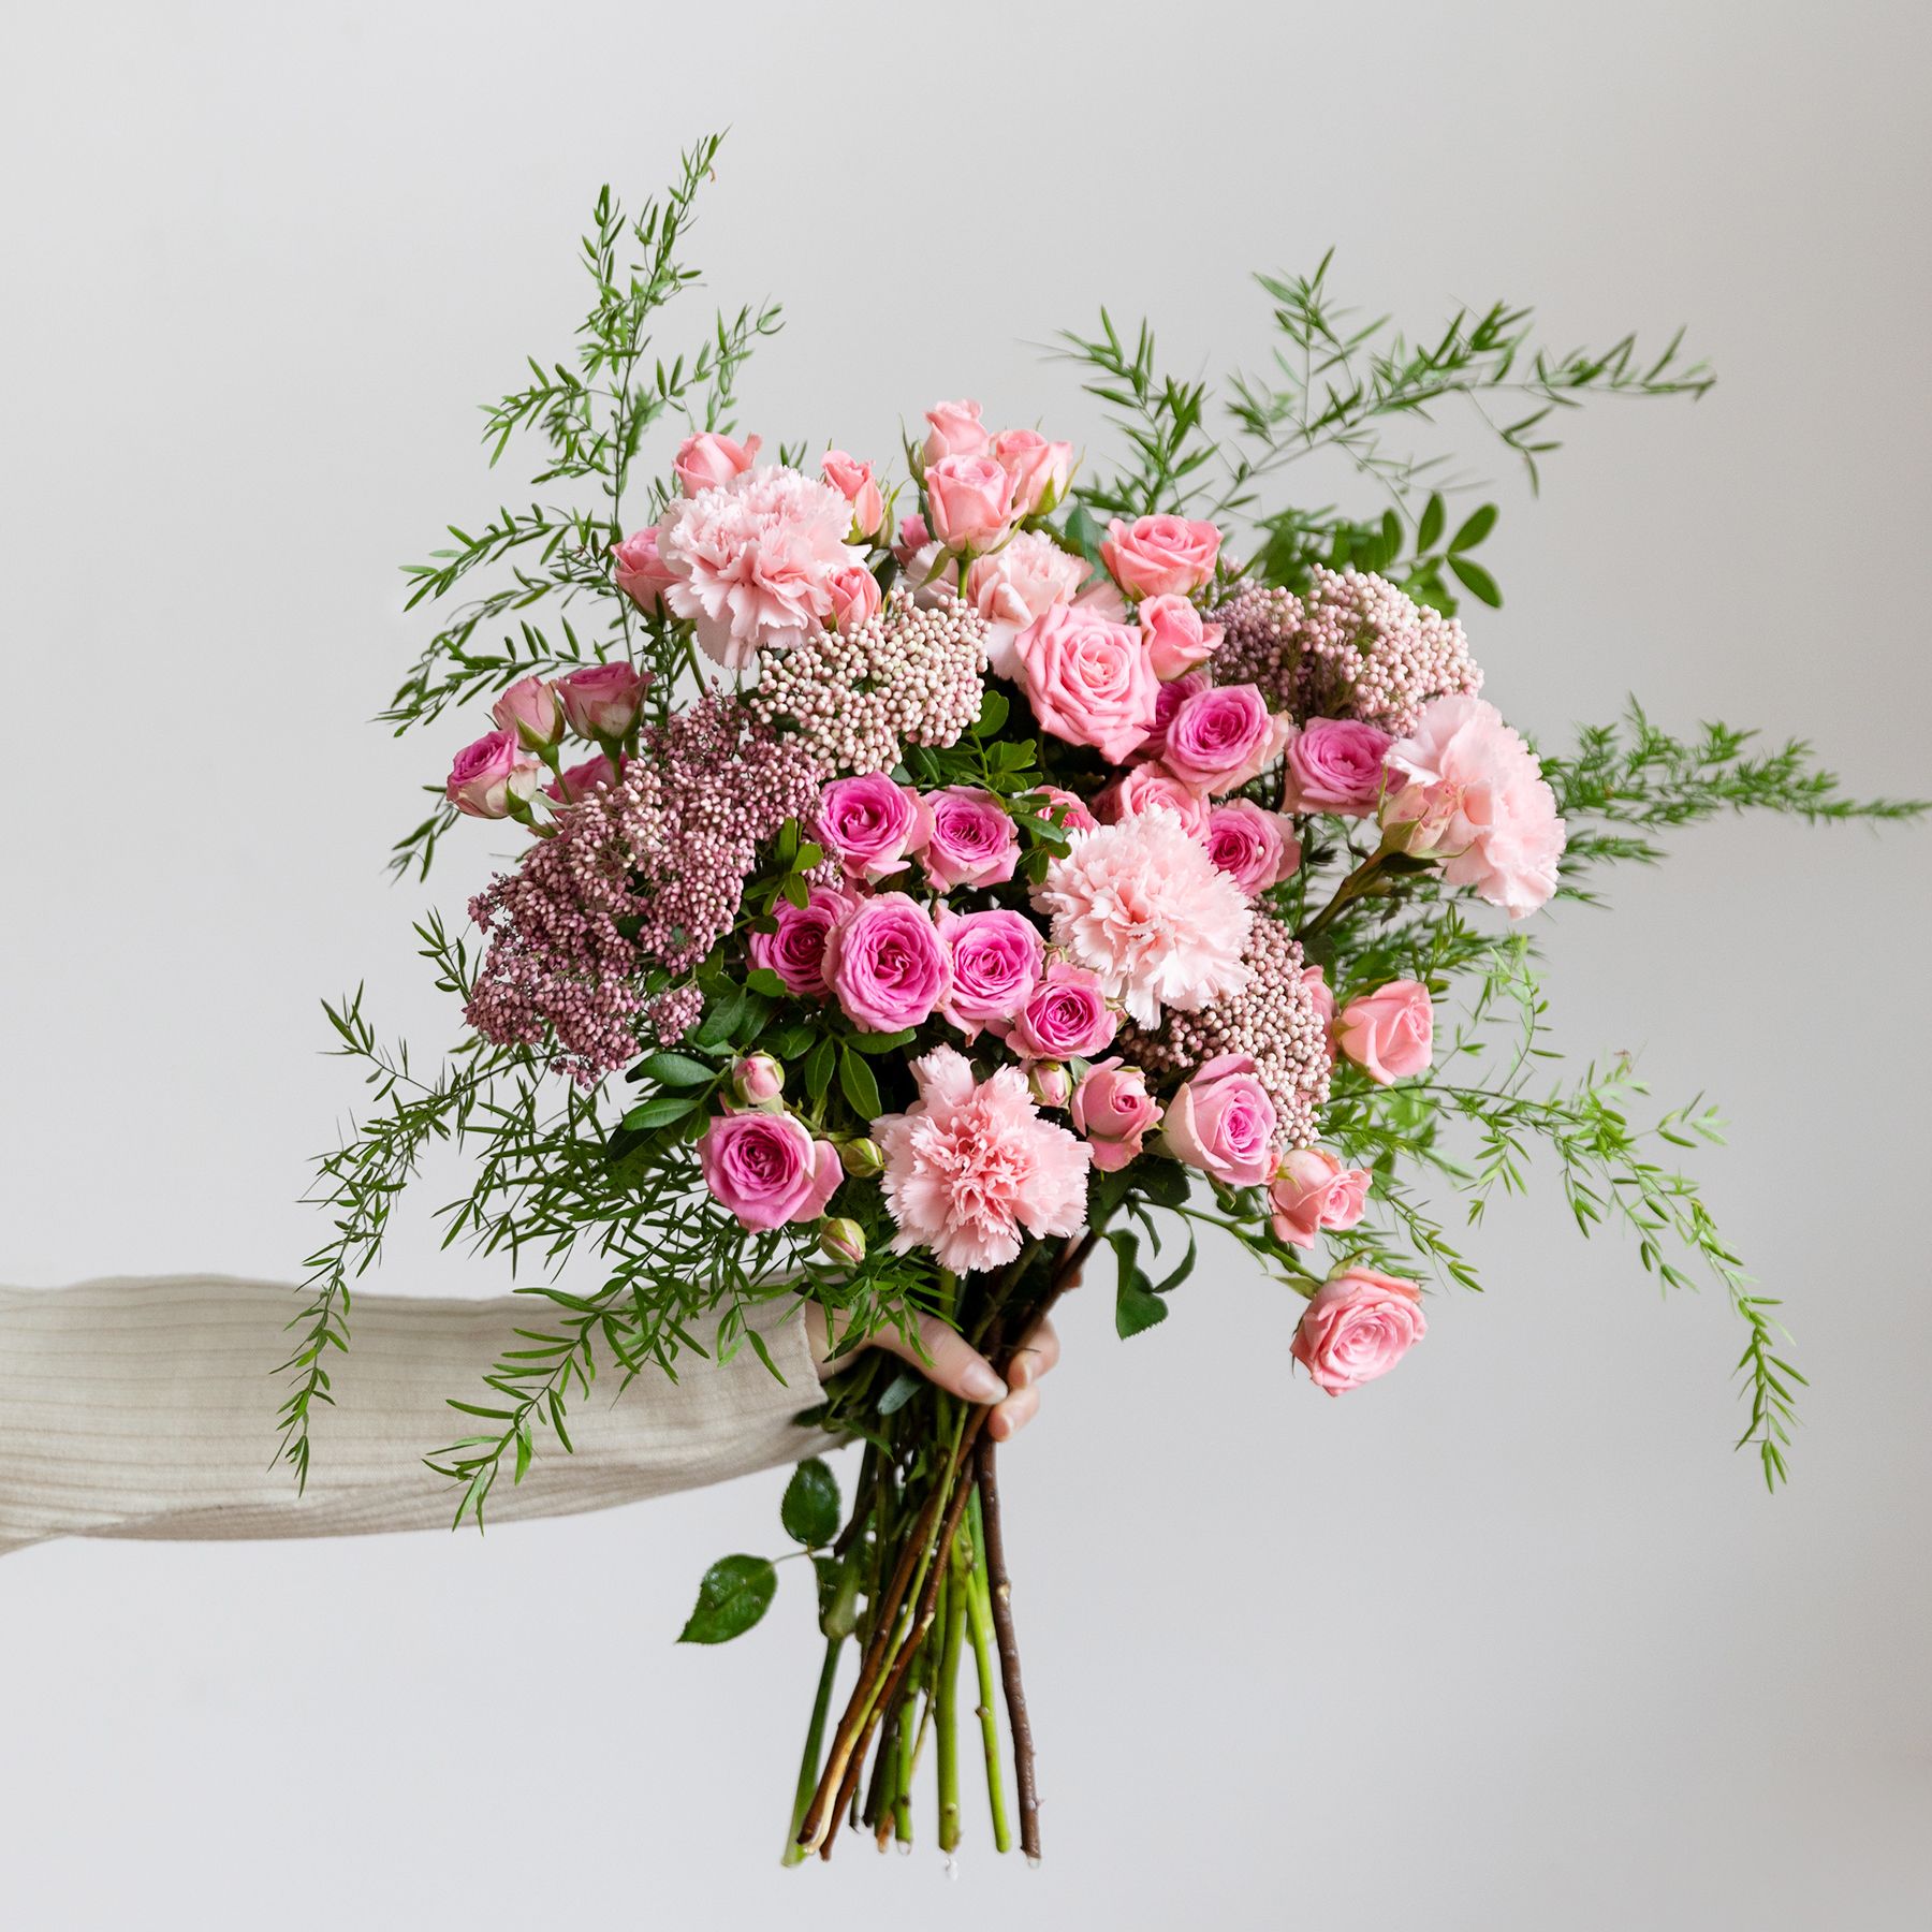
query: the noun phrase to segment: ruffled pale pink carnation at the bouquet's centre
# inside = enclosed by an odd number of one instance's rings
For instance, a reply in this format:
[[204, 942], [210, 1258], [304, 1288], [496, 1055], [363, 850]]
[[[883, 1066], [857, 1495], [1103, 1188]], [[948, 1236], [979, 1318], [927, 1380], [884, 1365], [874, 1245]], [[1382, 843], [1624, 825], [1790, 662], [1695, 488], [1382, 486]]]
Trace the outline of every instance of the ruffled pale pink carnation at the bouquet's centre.
[[1254, 908], [1173, 811], [1074, 833], [1034, 908], [1140, 1026], [1157, 1026], [1163, 1007], [1200, 1012], [1254, 978], [1242, 960]]

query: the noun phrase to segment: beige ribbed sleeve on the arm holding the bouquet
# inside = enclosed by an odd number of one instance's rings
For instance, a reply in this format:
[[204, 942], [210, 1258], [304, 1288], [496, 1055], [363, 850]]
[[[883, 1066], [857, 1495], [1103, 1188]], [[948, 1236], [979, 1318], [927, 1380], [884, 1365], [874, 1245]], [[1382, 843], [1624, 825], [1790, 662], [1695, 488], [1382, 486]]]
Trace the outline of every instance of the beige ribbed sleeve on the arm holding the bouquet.
[[[483, 1424], [446, 1397], [487, 1399], [481, 1378], [527, 1300], [357, 1294], [350, 1352], [330, 1368], [334, 1408], [315, 1418], [305, 1495], [276, 1461], [276, 1364], [296, 1291], [213, 1275], [0, 1289], [0, 1553], [50, 1536], [355, 1536], [448, 1528], [456, 1490], [427, 1453]], [[790, 1320], [784, 1316], [790, 1314]], [[510, 1470], [487, 1519], [564, 1517], [694, 1490], [823, 1447], [792, 1416], [821, 1399], [796, 1304], [752, 1349], [688, 1356], [678, 1381], [599, 1379], [520, 1486]], [[707, 1325], [694, 1327], [709, 1349]]]

